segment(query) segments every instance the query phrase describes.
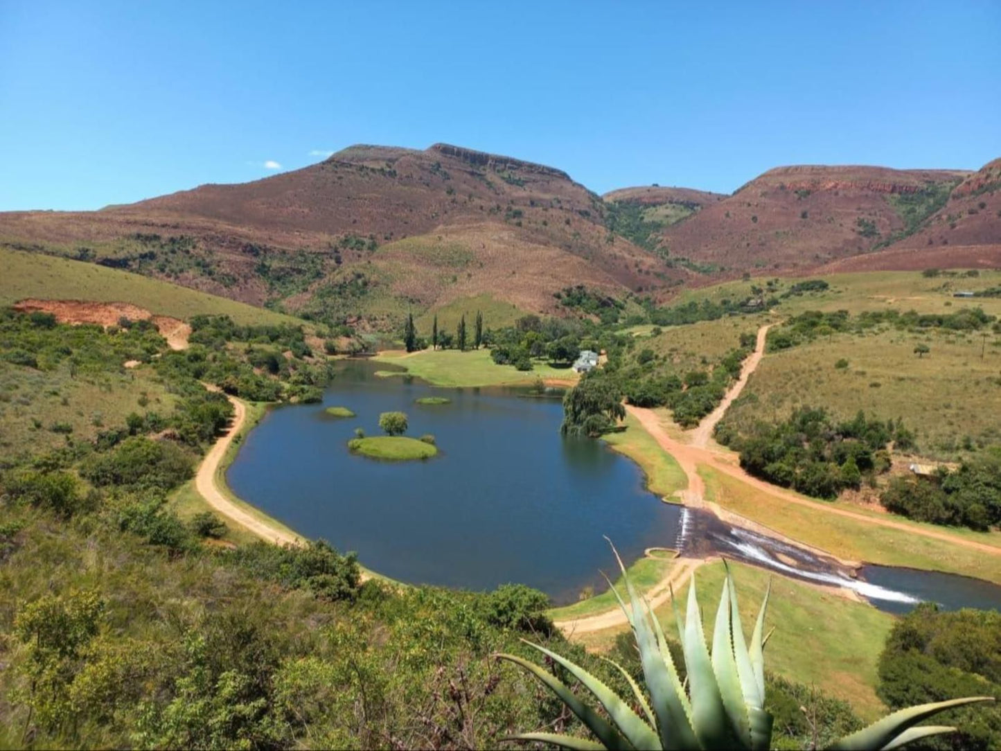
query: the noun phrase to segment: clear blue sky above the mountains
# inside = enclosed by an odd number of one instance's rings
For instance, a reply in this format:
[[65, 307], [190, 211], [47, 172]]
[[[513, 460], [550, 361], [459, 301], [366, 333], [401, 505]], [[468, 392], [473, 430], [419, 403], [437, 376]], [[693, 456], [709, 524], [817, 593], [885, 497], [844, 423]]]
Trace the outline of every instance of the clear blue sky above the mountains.
[[[696, 6], [696, 7], [693, 7]], [[1001, 156], [1001, 2], [0, 0], [0, 210], [446, 141], [605, 192]]]

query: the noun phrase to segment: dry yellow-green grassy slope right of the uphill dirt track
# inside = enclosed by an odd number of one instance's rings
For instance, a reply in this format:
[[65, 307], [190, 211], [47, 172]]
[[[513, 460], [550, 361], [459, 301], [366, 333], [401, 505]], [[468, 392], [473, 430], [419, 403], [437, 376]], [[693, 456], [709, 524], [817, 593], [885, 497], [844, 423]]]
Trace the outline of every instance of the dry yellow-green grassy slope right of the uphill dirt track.
[[[826, 407], [839, 419], [865, 410], [904, 419], [922, 455], [955, 460], [962, 444], [1001, 443], [1001, 335], [895, 329], [839, 333], [769, 353], [726, 417], [746, 432], [786, 419], [797, 407]], [[918, 357], [915, 344], [931, 351]], [[984, 357], [981, 359], [981, 349]], [[848, 360], [848, 367], [835, 362]]]

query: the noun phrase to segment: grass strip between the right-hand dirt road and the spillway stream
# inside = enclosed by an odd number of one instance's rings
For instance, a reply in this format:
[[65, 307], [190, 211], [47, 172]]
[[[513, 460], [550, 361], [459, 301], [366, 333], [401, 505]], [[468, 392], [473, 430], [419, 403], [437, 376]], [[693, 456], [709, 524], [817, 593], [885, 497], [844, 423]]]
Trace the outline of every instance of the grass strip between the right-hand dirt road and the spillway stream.
[[[706, 467], [700, 468], [699, 474], [706, 481], [708, 500], [794, 540], [823, 548], [839, 558], [964, 574], [1001, 584], [1001, 555], [992, 556], [941, 540], [912, 535], [904, 530], [878, 527], [864, 521], [823, 514], [809, 507], [785, 503], [758, 492], [736, 478]], [[825, 501], [813, 503], [821, 507], [828, 504]], [[844, 508], [856, 510], [849, 505], [844, 505]], [[905, 521], [896, 516], [893, 519]], [[921, 526], [912, 524], [915, 527]], [[1001, 547], [1001, 533], [998, 532], [954, 532], [941, 527], [930, 528], [955, 534], [960, 539], [977, 540]]]

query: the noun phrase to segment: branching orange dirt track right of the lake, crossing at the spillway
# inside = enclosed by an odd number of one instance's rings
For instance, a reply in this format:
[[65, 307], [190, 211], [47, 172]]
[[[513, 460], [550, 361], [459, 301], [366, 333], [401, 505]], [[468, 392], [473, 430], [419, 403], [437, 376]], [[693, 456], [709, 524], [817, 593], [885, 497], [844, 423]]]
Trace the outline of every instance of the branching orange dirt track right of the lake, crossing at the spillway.
[[[719, 470], [722, 473], [740, 480], [742, 483], [750, 485], [762, 493], [778, 498], [786, 503], [808, 507], [819, 514], [833, 514], [839, 517], [849, 517], [866, 524], [889, 527], [891, 529], [901, 530], [902, 532], [907, 532], [912, 535], [919, 535], [933, 540], [941, 540], [963, 548], [970, 548], [972, 550], [989, 553], [990, 555], [1001, 556], [1001, 548], [987, 545], [985, 543], [978, 543], [974, 540], [963, 540], [946, 532], [925, 530], [901, 522], [895, 522], [891, 519], [870, 517], [865, 514], [848, 511], [847, 509], [823, 506], [812, 501], [805, 501], [802, 498], [783, 491], [777, 486], [770, 485], [769, 483], [748, 475], [739, 465], [734, 463], [732, 455], [729, 455], [720, 449], [714, 450], [707, 448], [709, 438], [713, 435], [713, 429], [715, 429], [716, 425], [723, 419], [727, 408], [729, 408], [733, 401], [740, 396], [744, 387], [747, 385], [751, 373], [754, 372], [755, 368], [758, 367], [758, 364], [761, 362], [761, 359], [765, 354], [765, 342], [768, 335], [768, 329], [771, 325], [772, 324], [769, 323], [758, 329], [758, 339], [755, 343], [755, 350], [744, 361], [740, 378], [737, 383], [731, 387], [726, 397], [724, 397], [723, 402], [720, 403], [720, 406], [707, 416], [699, 427], [692, 432], [691, 444], [683, 444], [680, 441], [671, 438], [671, 436], [668, 435], [668, 432], [664, 430], [664, 426], [661, 424], [661, 418], [653, 410], [642, 407], [626, 407], [627, 411], [629, 411], [629, 413], [640, 422], [644, 430], [653, 436], [654, 440], [657, 441], [664, 451], [674, 457], [675, 461], [678, 462], [679, 466], [685, 472], [689, 482], [688, 490], [681, 491], [678, 494], [684, 500], [685, 505], [692, 507], [706, 506], [706, 484], [703, 482], [702, 476], [699, 475], [698, 468], [699, 465], [708, 465], [715, 470]], [[703, 563], [705, 563], [705, 561], [678, 559], [678, 564], [671, 568], [667, 577], [655, 585], [655, 587], [648, 594], [651, 607], [659, 607], [670, 600], [671, 588], [681, 588], [681, 586], [687, 582], [689, 578], [691, 578], [692, 572], [699, 568], [699, 566]], [[627, 623], [628, 620], [626, 615], [620, 608], [615, 608], [614, 610], [598, 613], [593, 616], [586, 616], [584, 618], [570, 621], [558, 621], [556, 625], [566, 634], [571, 635], [600, 631], [614, 626], [623, 626]]]

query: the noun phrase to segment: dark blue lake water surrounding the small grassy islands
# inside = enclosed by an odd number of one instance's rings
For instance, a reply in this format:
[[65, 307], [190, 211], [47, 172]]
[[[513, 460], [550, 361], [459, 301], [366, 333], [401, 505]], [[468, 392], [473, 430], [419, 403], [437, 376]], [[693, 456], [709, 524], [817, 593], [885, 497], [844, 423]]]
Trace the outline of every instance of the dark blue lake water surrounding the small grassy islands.
[[[561, 438], [559, 399], [433, 389], [373, 377], [380, 367], [343, 362], [322, 405], [272, 410], [229, 469], [233, 491], [392, 579], [473, 590], [519, 582], [558, 602], [604, 589], [599, 570], [615, 560], [603, 535], [627, 565], [675, 545], [681, 509], [647, 492], [641, 470], [601, 442]], [[414, 404], [424, 396], [451, 404]], [[329, 406], [357, 417], [328, 418]], [[439, 455], [351, 455], [354, 429], [378, 435], [379, 413], [391, 410], [409, 417], [408, 436], [432, 434]]]

